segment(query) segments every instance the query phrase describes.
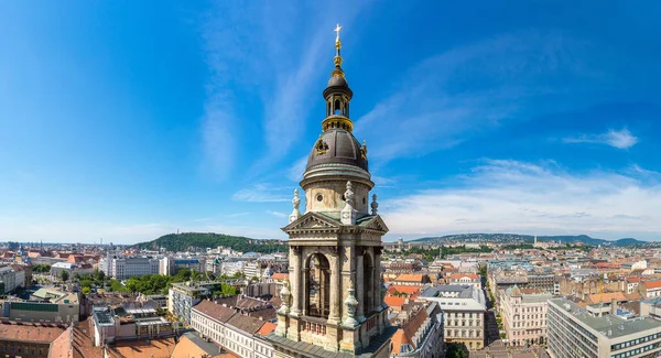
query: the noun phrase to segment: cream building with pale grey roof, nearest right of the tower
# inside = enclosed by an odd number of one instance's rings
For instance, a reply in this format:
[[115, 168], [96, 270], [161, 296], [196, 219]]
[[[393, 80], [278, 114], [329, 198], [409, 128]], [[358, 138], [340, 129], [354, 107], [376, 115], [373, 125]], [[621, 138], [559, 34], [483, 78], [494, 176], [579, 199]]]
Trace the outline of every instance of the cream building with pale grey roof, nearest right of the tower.
[[446, 343], [465, 344], [470, 350], [485, 346], [485, 293], [474, 285], [441, 285], [419, 299], [437, 302], [443, 311]]

